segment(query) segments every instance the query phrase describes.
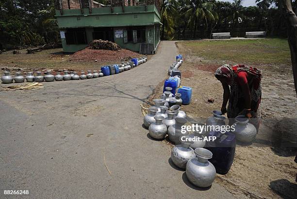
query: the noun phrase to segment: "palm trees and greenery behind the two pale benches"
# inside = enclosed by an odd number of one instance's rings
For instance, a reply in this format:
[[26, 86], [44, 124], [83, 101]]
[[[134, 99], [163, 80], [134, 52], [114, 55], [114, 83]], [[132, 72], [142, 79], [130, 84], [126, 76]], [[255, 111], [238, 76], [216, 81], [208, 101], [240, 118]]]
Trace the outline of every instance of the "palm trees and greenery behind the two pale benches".
[[[212, 32], [244, 36], [249, 31], [286, 35], [286, 23], [274, 0], [256, 0], [257, 6], [242, 6], [242, 0], [165, 0], [161, 10], [162, 39], [209, 38]], [[273, 3], [273, 4], [272, 4]], [[271, 6], [273, 5], [273, 6]], [[190, 33], [190, 37], [189, 37]], [[187, 35], [186, 35], [187, 34]]]

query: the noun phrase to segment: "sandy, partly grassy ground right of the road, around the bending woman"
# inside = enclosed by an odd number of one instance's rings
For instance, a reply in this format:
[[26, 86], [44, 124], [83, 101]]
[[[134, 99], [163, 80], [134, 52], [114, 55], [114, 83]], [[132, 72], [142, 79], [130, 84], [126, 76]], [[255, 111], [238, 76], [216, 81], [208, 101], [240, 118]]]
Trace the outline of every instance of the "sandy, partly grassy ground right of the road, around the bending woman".
[[[279, 45], [284, 47], [276, 46], [276, 42], [280, 42]], [[259, 45], [259, 43], [261, 44]], [[214, 71], [217, 67], [226, 63], [240, 63], [255, 66], [261, 69], [264, 75], [261, 102], [262, 132], [259, 132], [256, 141], [263, 142], [269, 147], [237, 145], [231, 170], [226, 175], [218, 174], [215, 181], [238, 198], [296, 198], [297, 164], [294, 162], [294, 158], [297, 148], [280, 147], [281, 131], [275, 130], [283, 128], [294, 132], [297, 127], [296, 92], [288, 59], [289, 51], [285, 51], [286, 43], [267, 39], [259, 42], [243, 41], [241, 43], [239, 41], [236, 43], [234, 41], [233, 44], [229, 42], [227, 45], [221, 42], [214, 46], [211, 42], [205, 45], [203, 41], [178, 42], [176, 45], [184, 57], [184, 63], [180, 67], [181, 85], [190, 86], [193, 89], [191, 103], [182, 106], [181, 109], [199, 121], [205, 121], [211, 115], [212, 110], [220, 110], [223, 89], [221, 83], [214, 78]], [[231, 48], [228, 48], [228, 45], [231, 45]], [[257, 52], [253, 52], [255, 49]], [[216, 59], [214, 54], [219, 53], [220, 50], [221, 53], [225, 50], [224, 53], [227, 54], [227, 57], [220, 55]], [[242, 51], [250, 53], [252, 58], [249, 59], [249, 56], [246, 55], [242, 62], [239, 62], [238, 57]], [[281, 53], [281, 61], [277, 55], [273, 54], [273, 51], [278, 55]], [[263, 56], [261, 56], [261, 52], [264, 52]], [[236, 53], [237, 56], [234, 55]], [[152, 103], [152, 99], [160, 97], [163, 83], [159, 84], [154, 95], [148, 99], [144, 106], [148, 107], [148, 104]], [[207, 102], [210, 98], [214, 99], [214, 103]], [[279, 148], [275, 147], [272, 142], [273, 136], [278, 139], [277, 146]], [[291, 138], [293, 139], [291, 141], [294, 139], [296, 141], [297, 136]], [[164, 143], [170, 144], [167, 140]]]

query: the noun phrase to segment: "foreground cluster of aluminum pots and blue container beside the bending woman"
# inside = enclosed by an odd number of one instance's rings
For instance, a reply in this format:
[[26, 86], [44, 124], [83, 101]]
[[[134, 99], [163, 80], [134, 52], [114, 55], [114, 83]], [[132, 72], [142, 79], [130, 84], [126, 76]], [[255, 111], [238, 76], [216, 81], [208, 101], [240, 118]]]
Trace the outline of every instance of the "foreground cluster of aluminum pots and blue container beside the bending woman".
[[[256, 137], [256, 128], [245, 116], [235, 118], [234, 131], [222, 131], [226, 117], [220, 111], [213, 111], [205, 124], [200, 126], [219, 126], [219, 131], [199, 131], [189, 133], [186, 126], [186, 114], [181, 111], [181, 94], [172, 93], [171, 87], [165, 87], [161, 99], [154, 99], [144, 116], [144, 126], [150, 137], [164, 139], [168, 136], [175, 144], [171, 150], [172, 163], [185, 169], [188, 180], [198, 187], [209, 187], [216, 173], [227, 174], [233, 163], [236, 139], [250, 143]], [[208, 139], [205, 139], [208, 137]], [[215, 137], [215, 139], [210, 139]]]

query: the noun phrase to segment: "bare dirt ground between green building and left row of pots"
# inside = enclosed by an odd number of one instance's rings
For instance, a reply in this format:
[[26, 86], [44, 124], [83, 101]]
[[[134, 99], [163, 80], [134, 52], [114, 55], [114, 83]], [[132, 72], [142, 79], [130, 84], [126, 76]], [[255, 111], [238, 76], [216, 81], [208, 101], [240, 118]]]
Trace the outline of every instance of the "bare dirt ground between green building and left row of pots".
[[[94, 50], [91, 50], [94, 51]], [[124, 52], [127, 50], [123, 49]], [[129, 50], [130, 51], [130, 50]], [[100, 70], [101, 66], [119, 64], [120, 58], [114, 59], [114, 61], [100, 61], [99, 55], [89, 61], [75, 61], [72, 59], [71, 54], [63, 53], [63, 49], [49, 49], [35, 52], [34, 54], [26, 54], [26, 50], [19, 50], [20, 54], [13, 54], [12, 51], [6, 51], [0, 54], [0, 73], [3, 71], [10, 70], [11, 74], [14, 74], [18, 68], [22, 69], [23, 74], [29, 71], [46, 71], [53, 70], [58, 71], [59, 69], [67, 69], [69, 71], [87, 71], [87, 70]], [[138, 54], [130, 51], [132, 54]], [[116, 52], [115, 55], [121, 55], [120, 52]], [[94, 55], [90, 54], [90, 57]], [[119, 57], [119, 56], [115, 56]], [[148, 55], [148, 59], [151, 55]], [[77, 58], [77, 57], [75, 57]], [[110, 59], [108, 59], [110, 60]]]

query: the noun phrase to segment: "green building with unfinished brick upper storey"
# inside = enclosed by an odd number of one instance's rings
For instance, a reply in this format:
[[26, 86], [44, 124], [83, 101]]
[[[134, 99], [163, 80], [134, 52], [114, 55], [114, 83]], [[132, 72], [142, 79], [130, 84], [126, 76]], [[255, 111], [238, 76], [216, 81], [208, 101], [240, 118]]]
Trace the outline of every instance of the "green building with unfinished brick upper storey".
[[160, 42], [159, 0], [56, 0], [56, 18], [64, 52], [84, 49], [92, 40], [152, 54]]

